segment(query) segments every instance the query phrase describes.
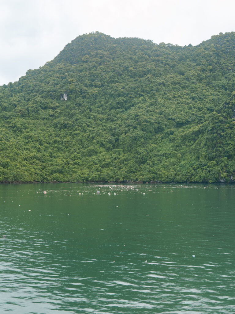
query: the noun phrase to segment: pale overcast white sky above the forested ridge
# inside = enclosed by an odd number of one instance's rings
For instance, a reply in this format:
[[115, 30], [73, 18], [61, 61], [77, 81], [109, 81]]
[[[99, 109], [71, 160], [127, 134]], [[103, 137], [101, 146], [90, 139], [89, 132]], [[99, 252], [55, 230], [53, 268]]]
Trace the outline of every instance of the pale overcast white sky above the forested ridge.
[[235, 31], [234, 0], [0, 0], [0, 12], [0, 85], [91, 31], [180, 46]]

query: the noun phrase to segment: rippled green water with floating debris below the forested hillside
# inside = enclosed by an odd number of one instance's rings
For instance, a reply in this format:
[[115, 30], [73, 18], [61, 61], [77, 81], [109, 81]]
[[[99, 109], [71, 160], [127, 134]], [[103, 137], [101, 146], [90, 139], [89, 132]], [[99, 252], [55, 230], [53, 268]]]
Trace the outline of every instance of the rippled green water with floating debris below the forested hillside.
[[235, 312], [235, 185], [0, 185], [0, 221], [1, 314]]

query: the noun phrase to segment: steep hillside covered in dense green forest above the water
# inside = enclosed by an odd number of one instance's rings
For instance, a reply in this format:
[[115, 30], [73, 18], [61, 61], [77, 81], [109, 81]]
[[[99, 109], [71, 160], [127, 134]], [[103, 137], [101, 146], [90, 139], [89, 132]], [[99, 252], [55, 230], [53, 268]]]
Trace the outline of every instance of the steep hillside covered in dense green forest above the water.
[[0, 87], [0, 181], [230, 181], [234, 91], [235, 32], [84, 34]]

